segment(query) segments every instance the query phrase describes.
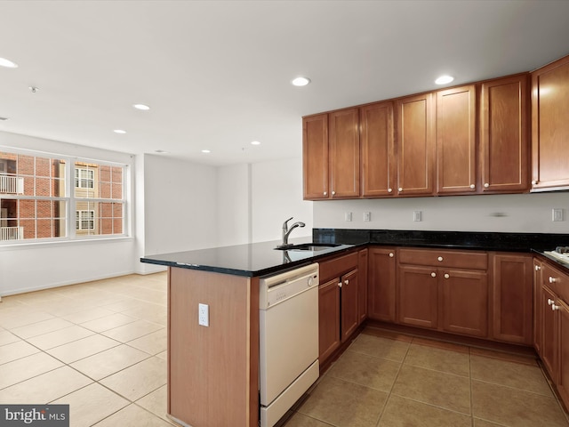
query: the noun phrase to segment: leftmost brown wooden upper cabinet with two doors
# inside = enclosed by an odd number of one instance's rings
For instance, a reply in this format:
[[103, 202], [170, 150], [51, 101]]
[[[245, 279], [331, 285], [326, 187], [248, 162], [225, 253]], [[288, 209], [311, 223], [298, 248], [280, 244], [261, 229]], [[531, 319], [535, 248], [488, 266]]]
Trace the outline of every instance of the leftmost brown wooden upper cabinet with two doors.
[[358, 109], [302, 119], [304, 198], [359, 197]]

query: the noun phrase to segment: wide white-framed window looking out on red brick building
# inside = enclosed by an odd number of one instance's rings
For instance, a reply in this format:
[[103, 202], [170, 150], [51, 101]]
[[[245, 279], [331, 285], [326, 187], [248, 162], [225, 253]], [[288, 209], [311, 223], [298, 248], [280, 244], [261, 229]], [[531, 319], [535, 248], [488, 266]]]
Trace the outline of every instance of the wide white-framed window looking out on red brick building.
[[125, 235], [126, 165], [2, 149], [0, 164], [0, 245]]

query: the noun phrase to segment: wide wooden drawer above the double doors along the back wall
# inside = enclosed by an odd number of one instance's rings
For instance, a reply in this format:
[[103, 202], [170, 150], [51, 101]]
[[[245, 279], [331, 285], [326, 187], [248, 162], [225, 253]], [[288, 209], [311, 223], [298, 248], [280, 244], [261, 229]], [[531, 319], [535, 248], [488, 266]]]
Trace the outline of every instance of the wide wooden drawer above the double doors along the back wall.
[[399, 263], [432, 267], [486, 270], [488, 254], [438, 249], [399, 249]]

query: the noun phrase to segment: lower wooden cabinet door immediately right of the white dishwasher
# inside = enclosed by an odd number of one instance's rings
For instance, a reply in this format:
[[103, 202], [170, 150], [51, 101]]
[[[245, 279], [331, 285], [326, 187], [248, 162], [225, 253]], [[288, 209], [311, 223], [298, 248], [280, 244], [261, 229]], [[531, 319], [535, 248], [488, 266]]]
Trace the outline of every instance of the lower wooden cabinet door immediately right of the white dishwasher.
[[322, 365], [340, 346], [340, 279], [318, 287], [318, 359]]

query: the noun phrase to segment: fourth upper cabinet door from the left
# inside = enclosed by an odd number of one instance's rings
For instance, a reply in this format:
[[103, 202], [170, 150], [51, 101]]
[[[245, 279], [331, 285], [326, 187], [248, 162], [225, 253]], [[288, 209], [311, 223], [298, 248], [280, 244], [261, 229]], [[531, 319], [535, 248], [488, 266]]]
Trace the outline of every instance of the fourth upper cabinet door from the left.
[[433, 94], [397, 101], [397, 194], [432, 195], [435, 163]]

